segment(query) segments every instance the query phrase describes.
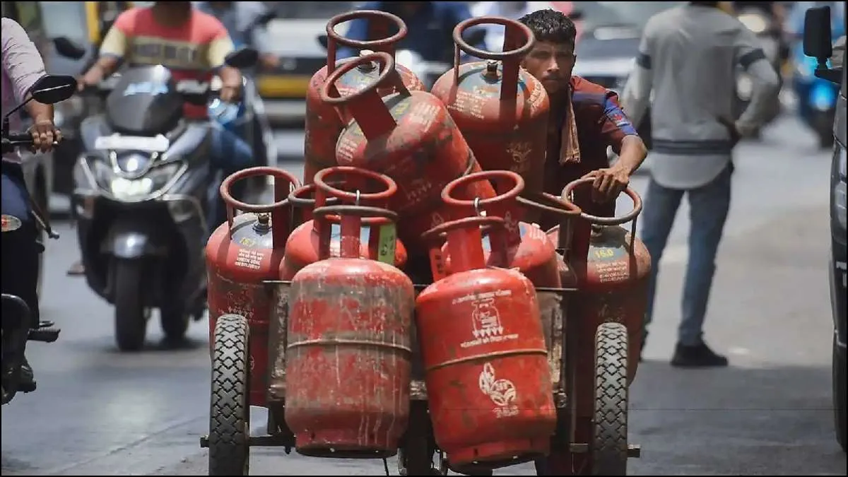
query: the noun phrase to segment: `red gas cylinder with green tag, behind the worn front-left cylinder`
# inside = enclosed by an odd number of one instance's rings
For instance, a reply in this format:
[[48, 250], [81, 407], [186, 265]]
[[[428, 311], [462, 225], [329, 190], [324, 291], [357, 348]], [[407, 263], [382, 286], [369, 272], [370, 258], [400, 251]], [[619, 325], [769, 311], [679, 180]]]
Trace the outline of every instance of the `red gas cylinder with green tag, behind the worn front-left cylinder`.
[[[341, 187], [356, 192], [342, 190]], [[377, 192], [369, 192], [372, 190]], [[310, 211], [331, 202], [385, 207], [397, 191], [397, 184], [385, 174], [358, 167], [336, 166], [319, 171], [315, 174], [315, 183], [295, 189], [288, 200], [294, 207], [309, 207]], [[314, 194], [315, 199], [304, 197], [308, 194]], [[397, 239], [394, 222], [377, 216], [363, 219], [362, 224], [360, 258], [382, 261], [402, 269], [406, 265], [406, 249]], [[318, 261], [321, 227], [329, 228], [329, 256], [338, 256], [341, 240], [338, 220], [334, 221], [332, 216], [321, 216], [303, 222], [292, 231], [286, 242], [286, 255], [280, 267], [282, 280], [291, 280], [300, 269]], [[393, 241], [394, 244], [387, 244], [386, 241]], [[393, 251], [393, 255], [386, 255], [389, 251]]]

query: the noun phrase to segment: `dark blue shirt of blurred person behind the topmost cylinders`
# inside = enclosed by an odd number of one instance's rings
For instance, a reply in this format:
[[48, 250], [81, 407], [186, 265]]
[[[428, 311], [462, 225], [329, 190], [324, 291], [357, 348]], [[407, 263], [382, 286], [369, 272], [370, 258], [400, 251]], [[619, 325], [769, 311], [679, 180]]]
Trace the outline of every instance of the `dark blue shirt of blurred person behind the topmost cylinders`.
[[[466, 2], [422, 2], [422, 8], [411, 18], [404, 18], [404, 15], [399, 14], [397, 11], [399, 8], [393, 3], [399, 2], [366, 2], [360, 9], [381, 10], [396, 14], [404, 20], [407, 28], [406, 37], [395, 48], [410, 49], [420, 54], [426, 61], [444, 61], [451, 58], [450, 52], [454, 50], [454, 28], [460, 22], [471, 18], [471, 11]], [[393, 31], [394, 29], [389, 30], [388, 35], [391, 35]], [[367, 19], [351, 20], [348, 32], [344, 36], [359, 41], [380, 38], [370, 31]], [[471, 46], [485, 48], [483, 44]], [[343, 59], [358, 55], [359, 51], [354, 48], [340, 46], [336, 58]]]

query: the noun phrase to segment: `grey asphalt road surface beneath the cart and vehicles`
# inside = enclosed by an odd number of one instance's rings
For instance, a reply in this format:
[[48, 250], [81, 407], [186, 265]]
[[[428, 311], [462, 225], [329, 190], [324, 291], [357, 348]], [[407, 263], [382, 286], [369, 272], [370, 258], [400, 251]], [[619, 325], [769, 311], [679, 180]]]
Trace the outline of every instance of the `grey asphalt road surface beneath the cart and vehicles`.
[[[297, 156], [302, 133], [279, 135]], [[631, 388], [631, 441], [642, 457], [631, 474], [844, 475], [834, 438], [828, 302], [828, 154], [792, 119], [739, 147], [733, 210], [718, 259], [706, 339], [730, 368], [671, 368], [683, 282], [687, 207], [678, 213], [662, 263], [657, 316], [646, 361]], [[283, 166], [300, 170], [297, 160]], [[644, 192], [645, 178], [634, 187]], [[622, 199], [622, 209], [627, 204]], [[31, 345], [38, 390], [3, 407], [6, 475], [206, 474], [198, 437], [208, 429], [206, 321], [185, 349], [115, 350], [112, 308], [82, 278], [64, 272], [75, 233], [47, 247], [42, 312], [63, 328], [52, 345]], [[265, 419], [254, 409], [254, 433]], [[393, 461], [389, 469], [395, 473]], [[254, 448], [252, 474], [377, 475], [382, 463], [326, 461]], [[499, 475], [533, 474], [522, 465]]]

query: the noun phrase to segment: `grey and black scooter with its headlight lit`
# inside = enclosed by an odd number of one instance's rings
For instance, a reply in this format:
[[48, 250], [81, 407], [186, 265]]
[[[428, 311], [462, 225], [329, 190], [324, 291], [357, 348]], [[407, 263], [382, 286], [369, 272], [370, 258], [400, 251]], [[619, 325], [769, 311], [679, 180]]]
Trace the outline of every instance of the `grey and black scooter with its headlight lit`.
[[[56, 46], [62, 53], [68, 44]], [[246, 69], [257, 59], [240, 48], [226, 64]], [[105, 95], [106, 106], [82, 123], [71, 207], [86, 283], [114, 305], [121, 351], [141, 349], [153, 308], [171, 343], [203, 317], [207, 204], [218, 194], [210, 132], [250, 123], [250, 105], [220, 104], [214, 82], [176, 81], [164, 66], [144, 65], [83, 91]], [[210, 121], [186, 120], [184, 103], [207, 106]]]

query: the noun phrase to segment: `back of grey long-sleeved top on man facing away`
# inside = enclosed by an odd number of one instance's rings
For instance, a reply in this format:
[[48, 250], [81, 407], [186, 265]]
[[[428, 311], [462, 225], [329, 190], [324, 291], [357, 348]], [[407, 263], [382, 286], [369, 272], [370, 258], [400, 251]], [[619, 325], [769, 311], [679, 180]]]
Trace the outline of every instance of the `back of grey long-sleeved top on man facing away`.
[[[755, 95], [736, 121], [737, 66], [770, 66], [758, 62], [764, 56], [756, 37], [719, 8], [693, 4], [670, 8], [649, 20], [645, 37], [651, 48], [649, 75], [654, 93], [652, 153], [654, 162], [661, 162], [652, 172], [674, 187], [695, 187], [701, 177], [715, 177], [726, 164], [703, 160], [703, 156], [729, 157], [733, 144], [727, 125], [736, 122], [745, 127], [762, 115], [763, 102], [772, 99]], [[697, 154], [687, 154], [692, 149], [698, 149]], [[674, 157], [666, 161], [667, 155]]]

